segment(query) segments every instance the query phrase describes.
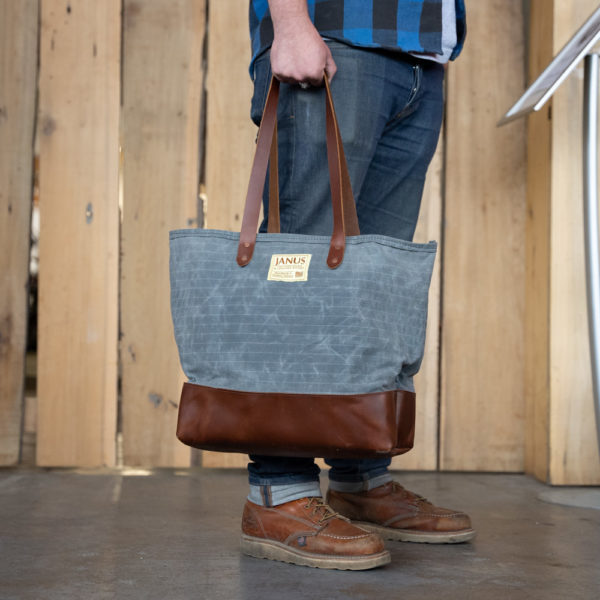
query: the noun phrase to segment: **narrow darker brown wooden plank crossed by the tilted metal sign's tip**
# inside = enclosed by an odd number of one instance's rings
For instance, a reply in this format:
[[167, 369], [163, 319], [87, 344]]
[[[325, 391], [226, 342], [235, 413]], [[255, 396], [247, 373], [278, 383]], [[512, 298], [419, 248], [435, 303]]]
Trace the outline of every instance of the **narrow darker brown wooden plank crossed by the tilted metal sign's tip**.
[[[546, 0], [530, 6], [531, 83], [552, 59], [552, 11]], [[550, 398], [550, 191], [551, 103], [527, 123], [527, 219], [525, 255], [525, 470], [548, 478]]]

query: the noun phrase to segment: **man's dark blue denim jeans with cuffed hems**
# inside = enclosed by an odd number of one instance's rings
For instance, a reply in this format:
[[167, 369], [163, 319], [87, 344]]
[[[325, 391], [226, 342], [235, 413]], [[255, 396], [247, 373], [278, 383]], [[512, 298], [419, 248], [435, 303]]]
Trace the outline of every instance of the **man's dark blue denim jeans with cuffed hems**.
[[[362, 234], [412, 240], [427, 168], [443, 116], [444, 68], [399, 53], [327, 42], [338, 71], [331, 91]], [[271, 78], [270, 54], [255, 61], [252, 119], [258, 124]], [[278, 108], [281, 232], [329, 235], [333, 227], [323, 88], [281, 84]], [[264, 194], [268, 215], [268, 186]], [[266, 217], [260, 231], [267, 230]], [[266, 504], [319, 495], [311, 458], [250, 456], [250, 499]], [[330, 485], [370, 489], [390, 476], [390, 459], [325, 459]], [[278, 490], [279, 493], [278, 494]], [[283, 492], [285, 490], [285, 492]]]

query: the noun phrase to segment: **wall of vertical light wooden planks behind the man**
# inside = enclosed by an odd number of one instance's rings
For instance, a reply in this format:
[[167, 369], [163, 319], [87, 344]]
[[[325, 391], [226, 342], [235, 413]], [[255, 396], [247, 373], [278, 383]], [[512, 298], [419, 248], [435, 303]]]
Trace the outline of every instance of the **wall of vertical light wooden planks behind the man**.
[[[207, 4], [206, 226], [235, 230], [256, 134], [246, 5], [124, 0], [121, 29], [120, 0], [40, 4], [39, 465], [117, 464], [120, 376], [123, 461], [190, 462], [174, 437], [183, 376], [168, 307], [167, 233], [198, 222]], [[4, 464], [18, 460], [22, 421], [37, 6], [0, 0]], [[552, 110], [529, 119], [526, 168], [525, 121], [496, 128], [525, 86], [523, 3], [467, 8], [469, 35], [448, 69], [444, 143], [417, 232], [420, 241], [442, 242], [416, 382], [417, 443], [394, 466], [525, 467], [552, 483], [600, 483], [584, 302], [581, 69]], [[592, 0], [531, 0], [530, 79], [594, 8]], [[202, 458], [205, 466], [246, 461]]]

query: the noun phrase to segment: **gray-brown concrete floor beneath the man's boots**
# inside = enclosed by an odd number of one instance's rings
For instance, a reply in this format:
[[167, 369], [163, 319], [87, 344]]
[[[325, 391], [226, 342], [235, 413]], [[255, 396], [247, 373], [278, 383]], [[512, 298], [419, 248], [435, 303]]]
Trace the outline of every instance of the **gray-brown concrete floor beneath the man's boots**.
[[391, 565], [339, 572], [240, 555], [241, 471], [133, 473], [0, 470], [0, 598], [600, 598], [600, 511], [542, 502], [522, 475], [399, 474], [478, 537], [388, 542]]

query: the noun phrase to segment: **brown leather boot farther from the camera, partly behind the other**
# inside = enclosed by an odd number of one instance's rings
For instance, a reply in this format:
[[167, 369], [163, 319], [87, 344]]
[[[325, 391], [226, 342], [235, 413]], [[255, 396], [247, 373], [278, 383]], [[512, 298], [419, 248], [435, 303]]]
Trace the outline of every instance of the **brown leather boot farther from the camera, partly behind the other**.
[[434, 506], [390, 481], [368, 492], [327, 492], [327, 503], [360, 527], [387, 540], [456, 544], [475, 537], [462, 512]]

